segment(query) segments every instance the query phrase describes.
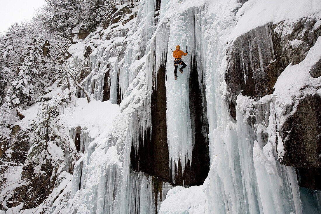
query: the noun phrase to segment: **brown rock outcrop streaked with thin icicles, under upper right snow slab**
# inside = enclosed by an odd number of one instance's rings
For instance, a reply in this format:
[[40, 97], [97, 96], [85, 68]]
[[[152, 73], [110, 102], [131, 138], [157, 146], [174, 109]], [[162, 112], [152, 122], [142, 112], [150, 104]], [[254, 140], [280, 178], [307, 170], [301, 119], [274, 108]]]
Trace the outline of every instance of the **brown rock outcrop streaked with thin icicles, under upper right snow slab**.
[[283, 22], [266, 24], [234, 40], [227, 49], [225, 75], [231, 91], [259, 98], [272, 94], [285, 67], [300, 63], [315, 44], [321, 31], [321, 27], [312, 30], [315, 23], [308, 18], [299, 20], [284, 36]]

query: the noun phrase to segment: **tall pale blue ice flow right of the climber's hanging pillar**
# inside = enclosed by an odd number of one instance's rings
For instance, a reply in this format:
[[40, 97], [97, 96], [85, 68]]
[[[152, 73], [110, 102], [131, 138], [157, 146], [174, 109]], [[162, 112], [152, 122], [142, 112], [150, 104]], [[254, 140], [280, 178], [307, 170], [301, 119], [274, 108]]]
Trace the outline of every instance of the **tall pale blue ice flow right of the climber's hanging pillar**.
[[[192, 2], [189, 1], [189, 4]], [[260, 137], [256, 136], [255, 130], [247, 122], [247, 108], [252, 105], [252, 101], [239, 98], [236, 124], [229, 114], [227, 103], [230, 98], [224, 76], [227, 66], [226, 38], [235, 25], [233, 8], [239, 5], [237, 1], [215, 1], [209, 6], [200, 5], [202, 8], [200, 10], [195, 9], [195, 20], [198, 20], [195, 22], [195, 46], [202, 48], [200, 50], [196, 48], [194, 51], [198, 51], [197, 55], [201, 56], [204, 64], [201, 69], [203, 72], [205, 69], [203, 81], [206, 83], [210, 127], [211, 169], [204, 182], [208, 199], [206, 210], [208, 213], [273, 213], [273, 209], [268, 210], [273, 206], [283, 213], [302, 213], [294, 169], [278, 164], [275, 155], [272, 155], [273, 150], [269, 144], [273, 142], [273, 137], [265, 147], [259, 147], [256, 143]], [[170, 8], [169, 4], [164, 6]], [[228, 9], [221, 10], [221, 8]], [[207, 10], [210, 10], [209, 14]], [[171, 17], [169, 47], [174, 43], [172, 26], [175, 26], [175, 20], [180, 22], [183, 20], [173, 14]], [[188, 22], [188, 16], [184, 17], [184, 22]], [[176, 29], [179, 32], [186, 30], [179, 27]], [[170, 53], [168, 57], [171, 57]], [[172, 78], [168, 69], [170, 67], [167, 65], [167, 78]], [[167, 79], [169, 94], [169, 87], [172, 89], [174, 86], [168, 83]], [[247, 103], [242, 105], [243, 102]], [[175, 111], [171, 105], [172, 103], [168, 103], [168, 111]], [[175, 118], [171, 121], [175, 124]], [[170, 126], [169, 116], [168, 126]], [[259, 122], [253, 126], [259, 126]], [[172, 129], [168, 128], [168, 132], [171, 131]], [[271, 188], [266, 188], [264, 185], [266, 183], [273, 185]], [[168, 198], [162, 206], [167, 206], [166, 201], [169, 200], [178, 198], [175, 196]], [[178, 209], [172, 210], [176, 213], [175, 210]]]

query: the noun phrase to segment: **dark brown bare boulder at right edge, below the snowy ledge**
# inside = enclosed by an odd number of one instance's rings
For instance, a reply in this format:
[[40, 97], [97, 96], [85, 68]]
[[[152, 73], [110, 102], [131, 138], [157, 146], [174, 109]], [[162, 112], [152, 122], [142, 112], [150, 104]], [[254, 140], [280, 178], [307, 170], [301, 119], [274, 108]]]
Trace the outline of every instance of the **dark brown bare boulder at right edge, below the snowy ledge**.
[[[321, 98], [308, 95], [299, 102], [298, 109], [285, 122], [281, 137], [284, 159], [281, 164], [296, 167], [321, 167]], [[321, 179], [321, 178], [320, 178]]]

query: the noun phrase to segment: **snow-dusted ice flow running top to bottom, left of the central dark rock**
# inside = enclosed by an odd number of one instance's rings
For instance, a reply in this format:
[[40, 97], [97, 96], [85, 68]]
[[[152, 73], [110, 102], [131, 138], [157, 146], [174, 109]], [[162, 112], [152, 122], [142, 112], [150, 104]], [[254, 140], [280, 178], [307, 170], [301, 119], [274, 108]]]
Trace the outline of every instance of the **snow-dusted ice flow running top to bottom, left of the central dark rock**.
[[[137, 148], [139, 139], [151, 126], [150, 93], [146, 82], [146, 67], [150, 64], [147, 66], [145, 63], [155, 31], [154, 0], [140, 1], [137, 17], [131, 24], [123, 58], [112, 56], [108, 48], [108, 51], [103, 51], [102, 56], [108, 62], [111, 75], [110, 98], [113, 102], [117, 99], [116, 76], [119, 72], [123, 97], [121, 113], [112, 130], [105, 133], [107, 137], [94, 139], [88, 147], [82, 161], [81, 176], [77, 175], [73, 181], [74, 187], [81, 183], [81, 188], [72, 194], [73, 203], [68, 207], [72, 213], [155, 212], [152, 177], [133, 172], [130, 167], [131, 149]], [[112, 43], [106, 40], [104, 45]], [[76, 167], [79, 168], [78, 163]]]

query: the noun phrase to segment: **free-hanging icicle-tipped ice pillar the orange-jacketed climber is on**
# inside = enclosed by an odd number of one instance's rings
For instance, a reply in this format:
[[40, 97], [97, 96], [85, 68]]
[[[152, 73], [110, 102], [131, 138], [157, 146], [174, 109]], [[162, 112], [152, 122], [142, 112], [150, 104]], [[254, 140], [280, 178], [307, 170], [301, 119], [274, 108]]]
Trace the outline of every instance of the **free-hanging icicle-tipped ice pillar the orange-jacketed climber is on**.
[[[194, 20], [192, 12], [187, 10], [183, 13], [173, 13], [169, 28], [168, 45], [175, 49], [180, 45], [183, 47], [194, 42]], [[175, 169], [180, 162], [184, 171], [187, 161], [192, 161], [192, 128], [189, 110], [189, 72], [190, 66], [184, 69], [184, 73], [179, 71], [178, 79], [174, 79], [173, 55], [169, 51], [166, 64], [166, 99], [167, 99], [167, 138], [169, 145], [169, 164], [172, 175], [175, 176]], [[182, 57], [187, 64], [191, 64], [191, 56]], [[180, 65], [178, 68], [181, 67]]]

